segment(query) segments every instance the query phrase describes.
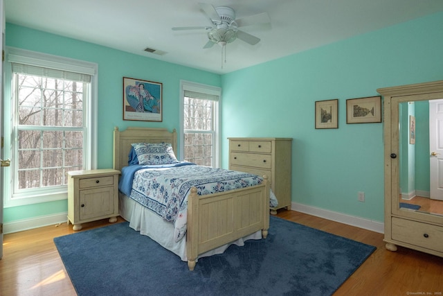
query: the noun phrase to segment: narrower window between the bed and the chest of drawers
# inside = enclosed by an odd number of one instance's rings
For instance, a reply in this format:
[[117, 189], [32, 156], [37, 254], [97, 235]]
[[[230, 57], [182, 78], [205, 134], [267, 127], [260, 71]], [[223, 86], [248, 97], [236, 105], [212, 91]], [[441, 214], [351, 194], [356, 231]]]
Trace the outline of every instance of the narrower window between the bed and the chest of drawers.
[[182, 159], [218, 166], [218, 105], [220, 89], [182, 82]]

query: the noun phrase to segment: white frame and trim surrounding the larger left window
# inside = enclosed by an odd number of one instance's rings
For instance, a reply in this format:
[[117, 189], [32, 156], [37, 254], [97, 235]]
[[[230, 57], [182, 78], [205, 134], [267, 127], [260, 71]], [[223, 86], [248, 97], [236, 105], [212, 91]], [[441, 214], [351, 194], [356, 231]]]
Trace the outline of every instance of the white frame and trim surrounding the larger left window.
[[[87, 102], [83, 104], [84, 110], [84, 125], [86, 135], [84, 137], [84, 170], [97, 168], [97, 101], [98, 101], [98, 64], [92, 62], [84, 62], [81, 60], [73, 60], [57, 55], [48, 55], [46, 53], [37, 53], [35, 51], [27, 51], [24, 49], [16, 49], [8, 47], [6, 49], [6, 85], [8, 85], [9, 92], [6, 92], [6, 98], [10, 100], [5, 101], [5, 130], [9, 130], [9, 134], [14, 134], [14, 124], [11, 122], [12, 112], [15, 112], [15, 94], [12, 89], [12, 62], [20, 64], [30, 64], [37, 67], [45, 67], [63, 71], [71, 71], [75, 73], [84, 73], [91, 76], [90, 97]], [[14, 164], [14, 142], [15, 139], [5, 137], [5, 147], [10, 147], [5, 150], [9, 153], [9, 158], [12, 159], [12, 166], [10, 170], [5, 170], [3, 175], [4, 184], [4, 207], [17, 207], [26, 204], [35, 204], [40, 202], [51, 202], [55, 200], [64, 200], [68, 197], [67, 186], [58, 186], [58, 189], [38, 189], [35, 191], [28, 191], [23, 193], [14, 193], [12, 178], [14, 173], [13, 168], [17, 167]]]

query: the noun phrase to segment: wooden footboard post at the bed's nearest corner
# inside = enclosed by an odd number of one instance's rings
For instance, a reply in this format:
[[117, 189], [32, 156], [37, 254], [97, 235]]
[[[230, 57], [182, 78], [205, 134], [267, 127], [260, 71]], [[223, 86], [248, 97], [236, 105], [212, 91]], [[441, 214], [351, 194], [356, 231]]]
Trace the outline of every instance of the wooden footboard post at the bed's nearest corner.
[[188, 196], [188, 229], [186, 230], [186, 256], [188, 268], [194, 270], [199, 245], [199, 195], [197, 188], [192, 187]]

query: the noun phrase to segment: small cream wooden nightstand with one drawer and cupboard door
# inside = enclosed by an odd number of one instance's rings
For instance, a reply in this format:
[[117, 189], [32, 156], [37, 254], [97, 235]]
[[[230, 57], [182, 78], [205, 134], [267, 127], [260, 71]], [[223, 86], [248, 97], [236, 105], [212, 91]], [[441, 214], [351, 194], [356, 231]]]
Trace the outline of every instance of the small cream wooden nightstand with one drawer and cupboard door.
[[73, 230], [94, 220], [117, 221], [119, 174], [112, 169], [68, 173], [68, 224], [73, 224]]

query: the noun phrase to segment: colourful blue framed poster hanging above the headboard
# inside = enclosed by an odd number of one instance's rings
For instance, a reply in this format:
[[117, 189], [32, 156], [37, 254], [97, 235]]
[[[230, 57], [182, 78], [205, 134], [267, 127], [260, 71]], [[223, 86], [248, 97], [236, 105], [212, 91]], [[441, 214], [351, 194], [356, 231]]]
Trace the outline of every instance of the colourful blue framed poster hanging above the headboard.
[[123, 77], [123, 120], [162, 121], [162, 84]]

